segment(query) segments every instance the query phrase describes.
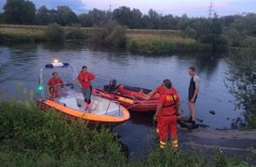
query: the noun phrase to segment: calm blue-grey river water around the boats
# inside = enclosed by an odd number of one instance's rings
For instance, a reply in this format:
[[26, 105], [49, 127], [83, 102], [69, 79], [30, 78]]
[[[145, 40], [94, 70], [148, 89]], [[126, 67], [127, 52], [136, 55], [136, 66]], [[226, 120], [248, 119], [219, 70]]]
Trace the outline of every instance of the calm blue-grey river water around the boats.
[[[34, 98], [38, 98], [40, 69], [58, 59], [69, 62], [78, 71], [87, 65], [96, 76], [94, 88], [102, 88], [111, 79], [116, 79], [117, 84], [153, 90], [163, 79], [169, 78], [183, 101], [184, 114], [188, 115], [185, 98], [190, 76], [187, 69], [195, 66], [200, 76], [197, 118], [204, 120], [209, 129], [229, 129], [232, 120], [241, 116], [234, 110], [234, 98], [223, 82], [229, 66], [221, 54], [147, 55], [91, 47], [84, 43], [43, 43], [0, 46], [0, 55], [0, 81], [4, 80], [0, 91], [5, 92], [6, 98], [14, 95], [18, 84], [33, 90]], [[215, 115], [209, 111], [215, 111]], [[116, 131], [133, 156], [143, 155], [154, 138], [152, 113], [131, 113], [131, 119], [116, 127]]]

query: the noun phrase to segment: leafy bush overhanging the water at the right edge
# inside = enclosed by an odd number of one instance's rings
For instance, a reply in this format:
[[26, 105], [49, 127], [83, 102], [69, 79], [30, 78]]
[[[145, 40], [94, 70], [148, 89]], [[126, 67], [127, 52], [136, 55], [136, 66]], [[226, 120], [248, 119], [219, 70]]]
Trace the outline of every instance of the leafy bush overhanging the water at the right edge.
[[[236, 98], [236, 108], [243, 109], [248, 127], [256, 128], [256, 55], [252, 49], [243, 49], [230, 56], [230, 70], [225, 82]], [[230, 85], [230, 86], [228, 86]]]

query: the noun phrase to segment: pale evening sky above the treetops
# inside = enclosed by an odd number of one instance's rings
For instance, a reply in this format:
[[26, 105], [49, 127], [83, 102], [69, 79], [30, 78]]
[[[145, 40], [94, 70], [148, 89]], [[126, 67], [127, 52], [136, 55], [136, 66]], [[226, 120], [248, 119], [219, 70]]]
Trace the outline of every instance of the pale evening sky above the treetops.
[[[182, 16], [184, 13], [188, 17], [200, 18], [208, 17], [212, 9], [212, 15], [216, 12], [220, 17], [244, 12], [256, 13], [256, 0], [30, 0], [38, 9], [41, 5], [46, 5], [48, 9], [56, 9], [58, 5], [67, 5], [76, 14], [87, 13], [94, 8], [102, 11], [115, 10], [121, 6], [139, 9], [143, 14], [147, 14], [150, 9], [164, 15], [172, 14]], [[0, 0], [0, 12], [6, 0]], [[2, 11], [1, 11], [2, 10]]]

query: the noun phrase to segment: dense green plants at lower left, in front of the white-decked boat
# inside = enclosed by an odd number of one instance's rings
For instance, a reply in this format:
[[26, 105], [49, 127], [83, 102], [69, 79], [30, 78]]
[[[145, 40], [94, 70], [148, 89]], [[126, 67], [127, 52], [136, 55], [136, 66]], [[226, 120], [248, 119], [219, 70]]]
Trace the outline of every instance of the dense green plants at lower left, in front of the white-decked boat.
[[68, 123], [60, 114], [15, 102], [0, 103], [3, 166], [117, 166], [124, 164], [117, 135], [108, 128]]

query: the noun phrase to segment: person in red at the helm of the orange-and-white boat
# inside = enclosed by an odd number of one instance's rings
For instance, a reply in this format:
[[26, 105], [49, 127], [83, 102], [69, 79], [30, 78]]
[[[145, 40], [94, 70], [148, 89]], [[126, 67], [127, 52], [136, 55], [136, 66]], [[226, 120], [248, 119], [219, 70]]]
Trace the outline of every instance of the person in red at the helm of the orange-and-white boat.
[[59, 77], [56, 72], [53, 72], [52, 77], [49, 79], [49, 82], [47, 84], [47, 91], [50, 98], [58, 98], [59, 89], [57, 89], [56, 87], [61, 84], [64, 84], [63, 79]]

